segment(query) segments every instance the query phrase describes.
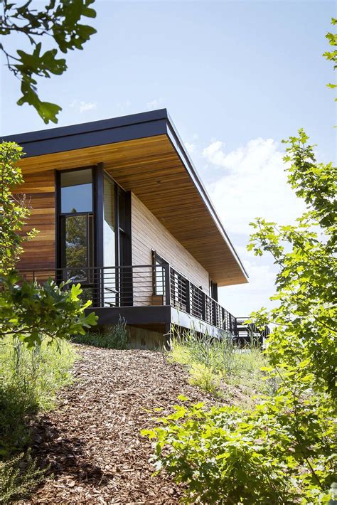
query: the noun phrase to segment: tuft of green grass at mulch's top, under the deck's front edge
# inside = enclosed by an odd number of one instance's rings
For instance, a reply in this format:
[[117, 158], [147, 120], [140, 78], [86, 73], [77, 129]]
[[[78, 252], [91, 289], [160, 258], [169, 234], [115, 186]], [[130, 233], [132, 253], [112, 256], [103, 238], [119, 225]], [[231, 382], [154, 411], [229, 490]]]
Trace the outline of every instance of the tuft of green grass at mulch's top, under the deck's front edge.
[[128, 349], [130, 344], [127, 321], [119, 318], [114, 326], [109, 326], [104, 332], [90, 331], [89, 333], [76, 336], [74, 341], [87, 346], [103, 347], [105, 349]]

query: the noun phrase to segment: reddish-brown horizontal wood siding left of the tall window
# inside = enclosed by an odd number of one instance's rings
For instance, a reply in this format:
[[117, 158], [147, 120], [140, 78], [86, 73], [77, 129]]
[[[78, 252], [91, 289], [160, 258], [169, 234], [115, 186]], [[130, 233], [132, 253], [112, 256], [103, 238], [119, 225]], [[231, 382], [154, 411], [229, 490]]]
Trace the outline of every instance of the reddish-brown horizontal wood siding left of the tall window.
[[23, 243], [21, 269], [55, 268], [55, 174], [53, 170], [23, 174], [24, 184], [15, 193], [25, 193], [32, 207], [24, 230], [36, 228], [38, 235]]

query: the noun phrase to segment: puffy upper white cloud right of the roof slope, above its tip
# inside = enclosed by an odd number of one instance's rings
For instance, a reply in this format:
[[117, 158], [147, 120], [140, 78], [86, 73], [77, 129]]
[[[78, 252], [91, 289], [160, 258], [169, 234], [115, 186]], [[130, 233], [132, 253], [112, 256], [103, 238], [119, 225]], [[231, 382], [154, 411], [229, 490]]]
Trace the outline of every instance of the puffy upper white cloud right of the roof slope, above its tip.
[[256, 217], [289, 223], [304, 206], [287, 184], [283, 152], [273, 139], [254, 139], [245, 146], [225, 152], [223, 142], [203, 149], [210, 166], [220, 170], [220, 178], [208, 184], [208, 191], [231, 233], [249, 234]]

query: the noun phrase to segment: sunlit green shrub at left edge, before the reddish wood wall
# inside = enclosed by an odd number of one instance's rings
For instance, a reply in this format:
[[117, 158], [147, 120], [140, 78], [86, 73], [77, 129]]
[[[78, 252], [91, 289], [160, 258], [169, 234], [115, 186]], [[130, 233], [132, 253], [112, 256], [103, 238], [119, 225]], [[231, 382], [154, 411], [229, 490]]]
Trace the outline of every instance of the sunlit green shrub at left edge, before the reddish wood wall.
[[36, 230], [19, 234], [31, 211], [24, 195], [12, 193], [23, 183], [17, 163], [22, 147], [15, 142], [0, 144], [0, 272], [9, 272], [22, 252], [21, 243], [36, 235]]

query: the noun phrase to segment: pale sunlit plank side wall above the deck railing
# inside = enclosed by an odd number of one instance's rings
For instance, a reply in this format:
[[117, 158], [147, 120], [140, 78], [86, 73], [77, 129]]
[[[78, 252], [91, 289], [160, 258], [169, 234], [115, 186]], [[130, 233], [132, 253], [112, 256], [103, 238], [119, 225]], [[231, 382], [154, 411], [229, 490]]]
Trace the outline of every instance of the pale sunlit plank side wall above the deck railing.
[[151, 250], [156, 250], [193, 284], [202, 286], [205, 292], [209, 292], [207, 270], [166, 230], [134, 193], [132, 193], [131, 216], [133, 265], [151, 265]]

